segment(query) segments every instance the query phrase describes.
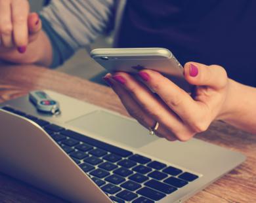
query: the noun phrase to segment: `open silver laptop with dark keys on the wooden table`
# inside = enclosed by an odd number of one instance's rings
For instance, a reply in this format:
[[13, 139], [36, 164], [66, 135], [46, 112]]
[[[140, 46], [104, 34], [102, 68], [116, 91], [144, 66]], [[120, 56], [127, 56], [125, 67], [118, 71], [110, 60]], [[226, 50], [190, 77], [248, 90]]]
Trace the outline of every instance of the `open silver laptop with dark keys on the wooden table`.
[[45, 92], [60, 115], [39, 113], [28, 96], [1, 103], [0, 171], [64, 200], [183, 202], [245, 160], [200, 139], [149, 136], [134, 119]]

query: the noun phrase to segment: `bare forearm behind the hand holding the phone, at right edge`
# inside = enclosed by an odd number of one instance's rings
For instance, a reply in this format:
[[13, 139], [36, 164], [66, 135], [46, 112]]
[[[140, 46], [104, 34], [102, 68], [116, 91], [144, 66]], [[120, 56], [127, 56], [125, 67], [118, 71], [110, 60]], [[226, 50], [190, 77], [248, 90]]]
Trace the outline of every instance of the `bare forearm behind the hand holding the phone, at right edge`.
[[220, 119], [256, 134], [256, 88], [231, 79], [229, 79], [229, 88], [224, 114]]

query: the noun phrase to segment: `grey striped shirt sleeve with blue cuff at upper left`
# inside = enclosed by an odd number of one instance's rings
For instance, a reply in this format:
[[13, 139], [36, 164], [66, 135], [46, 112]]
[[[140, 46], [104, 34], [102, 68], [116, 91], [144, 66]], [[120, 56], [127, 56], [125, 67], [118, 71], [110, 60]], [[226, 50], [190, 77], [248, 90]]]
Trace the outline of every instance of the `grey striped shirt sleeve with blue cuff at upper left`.
[[[54, 67], [62, 64], [77, 49], [89, 45], [98, 35], [114, 26], [115, 0], [51, 0], [41, 10], [45, 31], [53, 45]], [[48, 28], [48, 29], [47, 29]], [[51, 28], [51, 29], [49, 29]], [[53, 41], [57, 40], [57, 43]], [[61, 42], [72, 49], [60, 48]], [[59, 47], [58, 47], [59, 46]]]

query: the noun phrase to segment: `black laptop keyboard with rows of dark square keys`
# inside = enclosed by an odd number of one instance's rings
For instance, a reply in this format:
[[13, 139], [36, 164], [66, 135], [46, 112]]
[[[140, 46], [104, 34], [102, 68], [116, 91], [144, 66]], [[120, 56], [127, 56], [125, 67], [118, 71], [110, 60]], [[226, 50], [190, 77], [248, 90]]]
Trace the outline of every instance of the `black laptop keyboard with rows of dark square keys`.
[[113, 202], [151, 203], [175, 193], [198, 175], [3, 107], [41, 126]]

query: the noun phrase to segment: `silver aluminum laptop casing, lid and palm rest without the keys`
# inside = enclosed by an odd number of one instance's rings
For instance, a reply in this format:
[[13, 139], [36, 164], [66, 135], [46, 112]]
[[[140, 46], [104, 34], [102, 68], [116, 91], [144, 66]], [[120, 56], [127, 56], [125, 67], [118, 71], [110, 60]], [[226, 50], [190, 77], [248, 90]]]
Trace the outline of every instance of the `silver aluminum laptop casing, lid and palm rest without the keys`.
[[[90, 103], [45, 91], [60, 103], [61, 115], [38, 113], [28, 96], [1, 103], [91, 138], [158, 160], [199, 176], [160, 202], [183, 202], [241, 164], [245, 157], [191, 139], [170, 142], [148, 136], [135, 120]], [[37, 124], [0, 109], [0, 171], [72, 202], [112, 202]]]

